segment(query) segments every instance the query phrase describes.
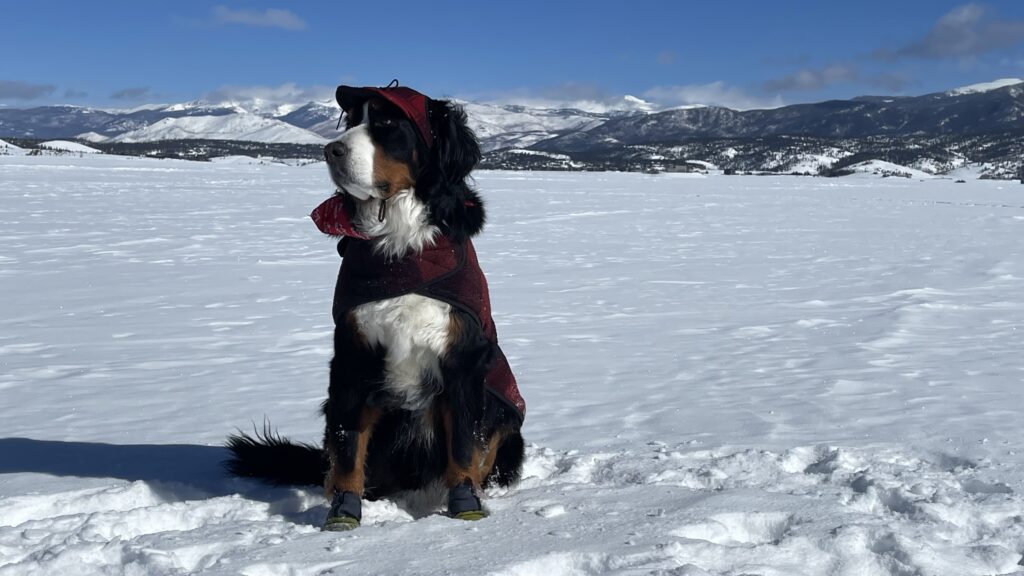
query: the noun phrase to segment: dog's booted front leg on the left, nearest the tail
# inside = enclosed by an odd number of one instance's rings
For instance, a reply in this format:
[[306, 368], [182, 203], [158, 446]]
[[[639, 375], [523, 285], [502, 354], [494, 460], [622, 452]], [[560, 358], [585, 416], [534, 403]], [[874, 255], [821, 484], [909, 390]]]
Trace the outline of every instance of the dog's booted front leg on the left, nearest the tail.
[[324, 403], [324, 447], [330, 468], [324, 483], [331, 500], [325, 530], [350, 530], [362, 518], [366, 461], [380, 410], [370, 405], [383, 369], [379, 354], [364, 344], [353, 326], [335, 329], [331, 384]]

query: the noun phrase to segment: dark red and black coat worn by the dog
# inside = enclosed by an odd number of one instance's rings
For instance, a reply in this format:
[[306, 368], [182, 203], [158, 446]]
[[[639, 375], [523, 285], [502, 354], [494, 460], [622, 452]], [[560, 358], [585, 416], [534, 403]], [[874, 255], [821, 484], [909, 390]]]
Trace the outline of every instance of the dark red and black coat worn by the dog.
[[468, 314], [495, 344], [497, 358], [484, 378], [487, 390], [514, 408], [520, 420], [525, 416], [526, 403], [498, 346], [487, 281], [471, 241], [456, 243], [440, 236], [418, 254], [388, 258], [374, 251], [372, 240], [354, 232], [339, 197], [324, 202], [311, 217], [325, 234], [345, 236], [338, 243], [342, 261], [334, 289], [335, 325], [342, 325], [355, 306], [404, 294], [447, 302]]

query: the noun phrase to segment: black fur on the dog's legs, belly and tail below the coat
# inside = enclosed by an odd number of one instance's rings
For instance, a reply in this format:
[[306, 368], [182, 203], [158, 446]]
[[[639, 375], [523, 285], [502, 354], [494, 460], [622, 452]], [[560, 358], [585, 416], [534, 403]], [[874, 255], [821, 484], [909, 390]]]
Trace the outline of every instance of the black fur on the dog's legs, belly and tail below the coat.
[[[466, 313], [455, 314], [460, 316], [461, 322], [472, 325]], [[354, 458], [351, 450], [357, 439], [357, 433], [352, 430], [357, 425], [361, 408], [367, 405], [384, 408], [384, 415], [374, 427], [370, 441], [364, 496], [376, 499], [431, 486], [443, 478], [447, 465], [441, 413], [434, 413], [435, 442], [418, 441], [420, 416], [386, 404], [381, 380], [383, 351], [368, 349], [351, 337], [347, 327], [335, 330], [331, 384], [323, 406], [327, 420], [325, 446], [332, 446], [343, 468], [351, 469]], [[483, 386], [483, 374], [494, 355], [494, 344], [478, 330], [466, 330], [442, 364], [445, 385], [439, 400], [451, 410], [455, 428], [453, 459], [458, 463], [468, 464], [474, 442], [499, 431], [505, 436], [484, 486], [509, 486], [519, 480], [524, 443], [518, 431], [518, 415]], [[339, 438], [340, 430], [345, 434]], [[328, 468], [325, 452], [308, 444], [292, 444], [267, 426], [255, 438], [246, 434], [230, 437], [227, 447], [232, 453], [227, 469], [236, 476], [274, 485], [324, 483]]]

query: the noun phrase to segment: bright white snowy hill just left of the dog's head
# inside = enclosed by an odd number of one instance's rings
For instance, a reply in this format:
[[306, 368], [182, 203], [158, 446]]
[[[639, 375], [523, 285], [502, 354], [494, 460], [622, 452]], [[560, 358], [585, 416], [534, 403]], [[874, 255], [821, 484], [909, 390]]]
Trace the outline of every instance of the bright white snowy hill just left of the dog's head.
[[165, 118], [144, 128], [114, 136], [111, 141], [142, 142], [185, 138], [288, 143], [325, 143], [328, 141], [309, 130], [292, 126], [281, 120], [246, 113]]

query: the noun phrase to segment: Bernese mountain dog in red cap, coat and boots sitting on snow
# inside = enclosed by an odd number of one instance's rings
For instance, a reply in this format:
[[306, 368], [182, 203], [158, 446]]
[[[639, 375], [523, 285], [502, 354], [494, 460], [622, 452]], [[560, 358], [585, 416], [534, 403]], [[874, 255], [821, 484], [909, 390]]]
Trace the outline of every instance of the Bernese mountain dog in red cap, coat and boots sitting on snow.
[[520, 476], [525, 412], [471, 242], [479, 143], [461, 107], [396, 83], [336, 97], [346, 129], [324, 154], [337, 192], [311, 214], [342, 255], [324, 447], [264, 426], [228, 439], [228, 470], [323, 483], [325, 530], [357, 527], [364, 498], [437, 486], [449, 516], [479, 520], [481, 491]]

